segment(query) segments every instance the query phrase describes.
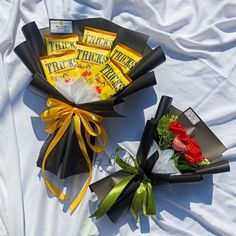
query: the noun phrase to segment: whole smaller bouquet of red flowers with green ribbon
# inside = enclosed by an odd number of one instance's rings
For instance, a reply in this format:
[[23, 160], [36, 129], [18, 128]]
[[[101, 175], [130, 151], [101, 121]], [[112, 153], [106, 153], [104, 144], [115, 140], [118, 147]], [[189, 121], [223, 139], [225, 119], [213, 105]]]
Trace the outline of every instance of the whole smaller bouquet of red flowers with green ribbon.
[[181, 112], [171, 102], [170, 97], [161, 98], [136, 157], [128, 153], [124, 161], [118, 148], [115, 161], [121, 170], [90, 185], [101, 201], [92, 216], [107, 214], [116, 222], [129, 208], [136, 220], [140, 209], [145, 216], [155, 215], [153, 186], [199, 182], [205, 174], [229, 171], [228, 161], [220, 160], [225, 146], [191, 108]]

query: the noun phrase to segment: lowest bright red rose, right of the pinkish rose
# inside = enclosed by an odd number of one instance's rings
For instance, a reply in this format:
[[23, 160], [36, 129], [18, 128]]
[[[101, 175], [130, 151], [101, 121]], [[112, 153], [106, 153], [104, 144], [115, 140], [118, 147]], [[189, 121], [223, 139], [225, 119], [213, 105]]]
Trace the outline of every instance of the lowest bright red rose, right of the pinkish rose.
[[205, 157], [202, 155], [201, 148], [194, 139], [191, 139], [191, 142], [187, 145], [187, 150], [184, 152], [183, 156], [192, 164], [205, 160]]

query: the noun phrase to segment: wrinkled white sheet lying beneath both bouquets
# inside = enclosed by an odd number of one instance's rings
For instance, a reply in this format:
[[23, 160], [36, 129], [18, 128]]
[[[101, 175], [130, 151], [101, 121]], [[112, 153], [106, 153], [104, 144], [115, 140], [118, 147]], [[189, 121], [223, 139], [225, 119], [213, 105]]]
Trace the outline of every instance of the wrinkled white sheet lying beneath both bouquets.
[[[96, 196], [89, 190], [73, 215], [45, 190], [36, 160], [46, 138], [39, 119], [44, 100], [25, 90], [30, 72], [13, 49], [21, 27], [48, 18], [103, 17], [149, 34], [167, 60], [155, 69], [157, 86], [127, 98], [126, 119], [107, 118], [106, 152], [97, 156], [93, 180], [116, 167], [109, 156], [117, 143], [135, 152], [145, 121], [161, 95], [180, 109], [194, 108], [228, 147], [231, 171], [200, 184], [157, 186], [156, 217], [137, 226], [127, 214], [116, 225], [94, 221]], [[0, 235], [235, 235], [236, 227], [236, 2], [221, 0], [1, 0], [0, 1]], [[110, 166], [109, 166], [110, 165]], [[65, 180], [74, 192], [84, 176]], [[76, 182], [77, 181], [77, 182]], [[61, 186], [63, 186], [63, 184]]]

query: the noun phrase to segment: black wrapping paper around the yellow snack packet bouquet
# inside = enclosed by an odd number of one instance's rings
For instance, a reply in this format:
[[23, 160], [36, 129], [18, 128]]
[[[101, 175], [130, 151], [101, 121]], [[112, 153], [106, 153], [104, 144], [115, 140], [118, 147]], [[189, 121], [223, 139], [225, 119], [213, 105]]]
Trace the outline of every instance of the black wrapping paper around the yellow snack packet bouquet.
[[[114, 46], [117, 43], [124, 43], [125, 45], [133, 48], [140, 53], [145, 52], [145, 55], [153, 52], [147, 45], [147, 35], [125, 29], [102, 18], [73, 20], [72, 26], [73, 33], [77, 33], [80, 36], [82, 36], [84, 26], [91, 26], [102, 30], [116, 32], [118, 36]], [[32, 81], [29, 84], [28, 88], [32, 92], [46, 99], [56, 98], [62, 102], [87, 110], [94, 114], [101, 115], [103, 117], [119, 117], [122, 115], [115, 111], [115, 105], [124, 102], [123, 98], [135, 93], [136, 91], [156, 84], [154, 72], [149, 72], [147, 69], [149, 68], [149, 65], [144, 63], [144, 66], [142, 65], [142, 67], [140, 68], [137, 66], [136, 68], [140, 76], [138, 78], [133, 76], [133, 83], [131, 83], [128, 87], [126, 87], [113, 98], [78, 105], [73, 104], [72, 102], [68, 101], [56, 88], [50, 85], [44, 78], [44, 73], [40, 63], [40, 57], [46, 54], [43, 35], [50, 33], [50, 28], [39, 30], [35, 22], [31, 22], [25, 25], [22, 28], [22, 31], [27, 40], [18, 45], [14, 51], [33, 74]], [[156, 57], [155, 61], [152, 62], [152, 69], [154, 68], [154, 65], [159, 65], [160, 61], [165, 61], [164, 54], [159, 53], [160, 50], [160, 47], [158, 47], [158, 50], [154, 50], [154, 53], [155, 51], [158, 51], [159, 56], [155, 54]], [[158, 60], [156, 61], [157, 58]], [[37, 166], [42, 166], [43, 157], [55, 133], [50, 135], [45, 141], [40, 151]], [[94, 140], [92, 141], [94, 142]], [[88, 146], [87, 151], [89, 153], [89, 156], [92, 157], [92, 150]], [[71, 124], [60, 142], [50, 153], [45, 169], [54, 173], [55, 175], [58, 175], [60, 178], [66, 178], [68, 176], [87, 172], [86, 163], [84, 162], [84, 160], [81, 160], [83, 158], [80, 158], [80, 156], [81, 150], [75, 137], [73, 124]]]

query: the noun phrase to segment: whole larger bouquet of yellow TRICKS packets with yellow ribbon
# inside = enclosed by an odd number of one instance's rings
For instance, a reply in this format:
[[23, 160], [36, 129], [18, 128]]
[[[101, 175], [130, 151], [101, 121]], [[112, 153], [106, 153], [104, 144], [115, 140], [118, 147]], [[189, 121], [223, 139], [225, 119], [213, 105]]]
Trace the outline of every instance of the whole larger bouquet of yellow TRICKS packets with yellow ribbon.
[[62, 179], [88, 173], [70, 205], [73, 212], [92, 179], [93, 153], [106, 146], [102, 120], [121, 116], [116, 104], [156, 84], [151, 70], [165, 55], [161, 47], [147, 45], [147, 35], [102, 18], [49, 24], [41, 30], [35, 22], [23, 26], [26, 41], [14, 51], [33, 74], [29, 89], [47, 99], [41, 119], [49, 136], [37, 161], [47, 189], [66, 201], [68, 196], [48, 180], [46, 171]]

